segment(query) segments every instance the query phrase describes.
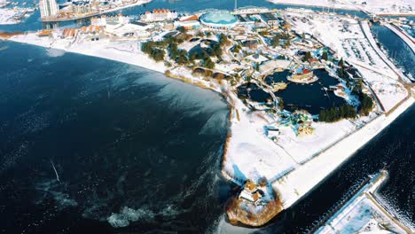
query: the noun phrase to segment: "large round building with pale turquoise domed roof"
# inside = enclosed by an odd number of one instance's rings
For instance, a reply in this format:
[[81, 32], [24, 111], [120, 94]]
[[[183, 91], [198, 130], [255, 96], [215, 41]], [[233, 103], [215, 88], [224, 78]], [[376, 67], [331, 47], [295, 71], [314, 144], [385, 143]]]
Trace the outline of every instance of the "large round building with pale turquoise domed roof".
[[227, 29], [234, 27], [238, 18], [227, 11], [208, 12], [200, 16], [200, 23], [203, 27], [214, 29]]

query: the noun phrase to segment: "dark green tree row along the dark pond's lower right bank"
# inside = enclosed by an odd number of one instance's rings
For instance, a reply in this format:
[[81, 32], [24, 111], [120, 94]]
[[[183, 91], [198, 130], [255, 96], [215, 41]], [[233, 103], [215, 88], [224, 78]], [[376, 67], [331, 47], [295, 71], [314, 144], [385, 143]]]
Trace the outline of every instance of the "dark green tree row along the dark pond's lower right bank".
[[319, 121], [335, 122], [342, 119], [356, 118], [356, 109], [353, 105], [341, 105], [340, 107], [332, 107], [330, 109], [321, 110], [318, 115]]

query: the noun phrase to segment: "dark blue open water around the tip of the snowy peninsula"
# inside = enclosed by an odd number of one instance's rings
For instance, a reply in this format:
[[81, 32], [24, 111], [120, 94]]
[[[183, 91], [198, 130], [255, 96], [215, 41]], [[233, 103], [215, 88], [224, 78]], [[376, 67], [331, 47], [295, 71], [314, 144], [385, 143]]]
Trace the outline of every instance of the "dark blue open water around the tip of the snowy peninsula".
[[[194, 7], [211, 3], [222, 1]], [[4, 45], [0, 233], [217, 232], [232, 192], [219, 175], [223, 98], [135, 66]], [[384, 165], [381, 199], [415, 222], [414, 114], [412, 106], [307, 198], [252, 231], [301, 233]]]

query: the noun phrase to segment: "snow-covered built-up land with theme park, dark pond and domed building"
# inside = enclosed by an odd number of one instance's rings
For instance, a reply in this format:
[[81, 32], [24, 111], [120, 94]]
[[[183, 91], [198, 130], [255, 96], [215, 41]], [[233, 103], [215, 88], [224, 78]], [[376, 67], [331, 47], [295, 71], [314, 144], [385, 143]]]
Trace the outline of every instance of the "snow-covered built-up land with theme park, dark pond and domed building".
[[231, 223], [266, 224], [414, 102], [414, 77], [371, 32], [380, 22], [413, 50], [407, 19], [237, 6], [153, 9], [139, 20], [102, 14], [145, 3], [59, 10], [55, 0], [41, 0], [44, 21], [90, 17], [90, 24], [3, 37], [143, 66], [221, 93], [231, 106], [222, 175], [240, 186], [226, 207]]

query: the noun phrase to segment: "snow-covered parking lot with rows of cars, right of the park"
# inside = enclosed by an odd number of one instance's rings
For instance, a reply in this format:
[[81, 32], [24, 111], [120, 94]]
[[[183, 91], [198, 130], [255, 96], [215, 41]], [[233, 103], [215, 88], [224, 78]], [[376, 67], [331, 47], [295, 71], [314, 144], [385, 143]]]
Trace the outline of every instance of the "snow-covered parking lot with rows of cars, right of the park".
[[[304, 14], [300, 13], [290, 15], [293, 18], [304, 17]], [[357, 20], [347, 17], [312, 14], [306, 16], [305, 22], [292, 20], [292, 23], [294, 30], [312, 33], [336, 51], [340, 58], [355, 65], [380, 98], [386, 112], [407, 96], [408, 93], [403, 85], [398, 83], [397, 76], [399, 74], [404, 77], [404, 74], [380, 51], [367, 22], [362, 22], [361, 27]], [[362, 28], [369, 40], [366, 39]]]

